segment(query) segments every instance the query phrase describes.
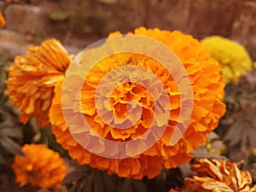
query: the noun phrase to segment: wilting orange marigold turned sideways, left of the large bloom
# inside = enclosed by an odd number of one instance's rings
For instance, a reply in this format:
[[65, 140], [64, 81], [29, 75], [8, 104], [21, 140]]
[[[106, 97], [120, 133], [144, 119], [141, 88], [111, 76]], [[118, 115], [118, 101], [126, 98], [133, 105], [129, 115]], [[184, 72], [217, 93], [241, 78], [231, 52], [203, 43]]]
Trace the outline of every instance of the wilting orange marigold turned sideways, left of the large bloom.
[[55, 84], [63, 79], [71, 59], [55, 39], [46, 40], [40, 46], [31, 45], [27, 53], [16, 56], [9, 67], [9, 101], [20, 110], [22, 123], [34, 117], [44, 127], [49, 125]]

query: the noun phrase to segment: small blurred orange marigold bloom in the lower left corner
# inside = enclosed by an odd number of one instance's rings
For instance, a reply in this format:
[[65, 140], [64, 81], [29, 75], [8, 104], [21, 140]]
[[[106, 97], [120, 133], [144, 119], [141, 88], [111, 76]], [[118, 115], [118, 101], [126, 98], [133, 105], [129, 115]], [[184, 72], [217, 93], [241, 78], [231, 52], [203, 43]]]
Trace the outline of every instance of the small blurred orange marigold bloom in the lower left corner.
[[61, 187], [67, 168], [60, 154], [44, 144], [25, 144], [21, 149], [25, 156], [15, 155], [12, 165], [20, 187], [26, 184], [43, 189]]

